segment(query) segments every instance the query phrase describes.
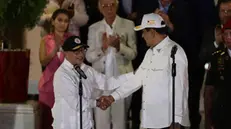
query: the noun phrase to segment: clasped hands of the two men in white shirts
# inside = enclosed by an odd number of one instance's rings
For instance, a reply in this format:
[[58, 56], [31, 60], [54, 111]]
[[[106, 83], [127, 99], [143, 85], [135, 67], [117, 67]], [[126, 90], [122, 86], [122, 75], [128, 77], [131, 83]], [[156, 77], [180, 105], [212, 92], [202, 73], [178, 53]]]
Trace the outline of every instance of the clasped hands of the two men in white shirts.
[[110, 96], [101, 96], [96, 100], [96, 106], [102, 110], [106, 110], [114, 102], [114, 98]]

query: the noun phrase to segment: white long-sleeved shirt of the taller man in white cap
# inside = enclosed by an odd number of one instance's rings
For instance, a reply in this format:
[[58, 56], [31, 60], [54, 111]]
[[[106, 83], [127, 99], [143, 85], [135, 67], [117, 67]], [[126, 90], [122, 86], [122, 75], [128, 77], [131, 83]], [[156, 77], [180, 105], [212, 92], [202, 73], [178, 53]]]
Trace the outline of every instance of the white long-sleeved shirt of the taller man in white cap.
[[111, 95], [124, 98], [143, 86], [143, 128], [169, 127], [172, 122], [171, 49], [177, 45], [175, 78], [175, 122], [189, 126], [188, 117], [188, 61], [184, 50], [166, 37], [149, 49], [134, 76]]

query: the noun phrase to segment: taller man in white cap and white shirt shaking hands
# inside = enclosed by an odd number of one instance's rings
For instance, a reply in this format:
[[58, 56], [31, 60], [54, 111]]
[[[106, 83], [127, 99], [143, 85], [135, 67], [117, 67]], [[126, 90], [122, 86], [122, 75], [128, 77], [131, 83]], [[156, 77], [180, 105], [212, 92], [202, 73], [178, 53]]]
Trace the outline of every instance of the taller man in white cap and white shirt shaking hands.
[[[189, 126], [188, 116], [188, 61], [184, 50], [172, 41], [168, 27], [158, 14], [145, 14], [136, 31], [143, 30], [143, 38], [150, 49], [133, 76], [109, 96], [100, 98], [101, 109], [125, 98], [143, 87], [141, 127], [148, 129], [184, 128]], [[175, 54], [175, 123], [172, 124], [171, 49]]]

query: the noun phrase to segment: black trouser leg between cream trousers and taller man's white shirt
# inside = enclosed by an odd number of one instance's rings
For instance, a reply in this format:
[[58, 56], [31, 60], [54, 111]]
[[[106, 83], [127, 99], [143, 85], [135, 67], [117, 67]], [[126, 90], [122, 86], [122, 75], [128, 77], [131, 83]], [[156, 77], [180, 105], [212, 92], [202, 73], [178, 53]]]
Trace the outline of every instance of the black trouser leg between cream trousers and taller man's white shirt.
[[131, 112], [132, 112], [132, 129], [140, 129], [140, 110], [142, 101], [142, 88], [132, 95]]

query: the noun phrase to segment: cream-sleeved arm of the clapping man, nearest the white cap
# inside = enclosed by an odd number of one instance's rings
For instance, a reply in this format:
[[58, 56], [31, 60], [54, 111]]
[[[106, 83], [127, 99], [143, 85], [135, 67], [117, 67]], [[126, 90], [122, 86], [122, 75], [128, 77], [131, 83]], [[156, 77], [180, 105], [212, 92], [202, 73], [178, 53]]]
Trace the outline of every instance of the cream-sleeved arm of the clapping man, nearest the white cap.
[[[134, 31], [134, 27], [135, 27], [134, 23], [130, 21], [129, 24], [127, 24], [127, 28], [129, 30], [127, 35], [127, 41], [124, 40], [120, 41], [121, 43], [120, 43], [119, 53], [128, 60], [135, 59], [137, 54], [136, 33]], [[122, 43], [122, 42], [126, 42], [126, 43]]]

